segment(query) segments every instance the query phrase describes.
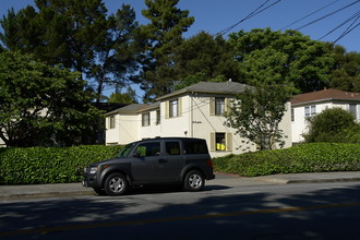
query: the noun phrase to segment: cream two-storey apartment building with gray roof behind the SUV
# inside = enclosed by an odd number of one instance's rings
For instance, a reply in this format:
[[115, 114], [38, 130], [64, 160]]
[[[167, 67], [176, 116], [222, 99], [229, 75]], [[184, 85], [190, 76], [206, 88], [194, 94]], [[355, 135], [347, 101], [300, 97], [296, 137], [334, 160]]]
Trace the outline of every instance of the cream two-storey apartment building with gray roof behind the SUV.
[[[157, 98], [155, 104], [133, 104], [106, 113], [106, 144], [118, 145], [152, 137], [205, 139], [212, 157], [253, 152], [255, 144], [224, 124], [231, 100], [247, 85], [201, 82]], [[285, 147], [291, 146], [290, 103], [280, 123]]]

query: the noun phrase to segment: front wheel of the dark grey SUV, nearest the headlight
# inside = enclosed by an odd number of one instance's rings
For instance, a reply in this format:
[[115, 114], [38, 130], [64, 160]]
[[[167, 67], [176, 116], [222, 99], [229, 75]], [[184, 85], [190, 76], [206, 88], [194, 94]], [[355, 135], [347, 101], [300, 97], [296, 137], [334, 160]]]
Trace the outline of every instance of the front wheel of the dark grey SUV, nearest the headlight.
[[105, 180], [104, 190], [108, 195], [121, 195], [128, 188], [127, 178], [121, 173], [112, 173]]

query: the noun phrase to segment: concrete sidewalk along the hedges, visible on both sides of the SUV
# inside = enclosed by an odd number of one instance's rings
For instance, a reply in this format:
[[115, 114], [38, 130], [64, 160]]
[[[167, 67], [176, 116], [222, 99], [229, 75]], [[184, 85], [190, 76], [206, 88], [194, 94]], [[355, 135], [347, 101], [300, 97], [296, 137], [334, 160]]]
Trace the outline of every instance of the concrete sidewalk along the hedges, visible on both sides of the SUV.
[[[311, 182], [360, 181], [360, 171], [317, 172], [272, 175], [255, 178], [244, 178], [235, 175], [216, 172], [216, 179], [207, 181], [206, 185], [259, 185], [259, 184], [289, 184]], [[0, 201], [12, 199], [94, 195], [91, 188], [79, 183], [33, 184], [33, 185], [0, 185]]]

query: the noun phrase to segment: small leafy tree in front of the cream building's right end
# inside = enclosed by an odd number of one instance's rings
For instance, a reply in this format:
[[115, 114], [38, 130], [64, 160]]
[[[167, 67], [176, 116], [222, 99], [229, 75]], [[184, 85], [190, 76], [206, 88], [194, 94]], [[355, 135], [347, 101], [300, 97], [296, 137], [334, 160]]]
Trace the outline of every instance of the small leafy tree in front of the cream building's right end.
[[255, 143], [261, 151], [272, 149], [276, 143], [283, 146], [284, 133], [278, 125], [293, 87], [274, 81], [253, 81], [252, 84], [237, 95], [225, 124]]

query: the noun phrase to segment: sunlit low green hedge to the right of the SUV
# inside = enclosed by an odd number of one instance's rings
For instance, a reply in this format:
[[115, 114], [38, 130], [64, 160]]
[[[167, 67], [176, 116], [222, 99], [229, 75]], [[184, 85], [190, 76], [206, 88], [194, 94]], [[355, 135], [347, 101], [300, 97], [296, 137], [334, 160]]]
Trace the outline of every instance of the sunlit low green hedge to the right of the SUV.
[[360, 144], [312, 143], [214, 158], [217, 171], [255, 177], [275, 173], [360, 171]]

